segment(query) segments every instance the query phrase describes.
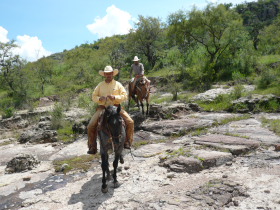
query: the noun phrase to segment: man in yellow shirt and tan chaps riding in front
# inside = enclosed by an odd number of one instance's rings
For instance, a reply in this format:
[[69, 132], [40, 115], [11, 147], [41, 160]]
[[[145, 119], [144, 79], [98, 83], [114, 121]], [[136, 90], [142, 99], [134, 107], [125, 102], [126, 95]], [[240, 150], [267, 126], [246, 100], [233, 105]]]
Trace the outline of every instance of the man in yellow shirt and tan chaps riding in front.
[[[92, 94], [92, 100], [98, 103], [95, 114], [92, 116], [87, 129], [88, 129], [88, 154], [97, 153], [97, 127], [98, 119], [102, 114], [105, 107], [110, 105], [119, 106], [122, 102], [127, 100], [127, 93], [121, 83], [114, 80], [114, 76], [118, 74], [118, 70], [111, 66], [106, 66], [104, 71], [99, 71], [101, 76], [105, 77], [105, 81], [99, 83], [94, 89]], [[133, 142], [134, 134], [134, 121], [128, 115], [125, 110], [120, 111], [125, 124], [126, 124], [126, 141], [124, 143], [124, 148], [129, 149]]]

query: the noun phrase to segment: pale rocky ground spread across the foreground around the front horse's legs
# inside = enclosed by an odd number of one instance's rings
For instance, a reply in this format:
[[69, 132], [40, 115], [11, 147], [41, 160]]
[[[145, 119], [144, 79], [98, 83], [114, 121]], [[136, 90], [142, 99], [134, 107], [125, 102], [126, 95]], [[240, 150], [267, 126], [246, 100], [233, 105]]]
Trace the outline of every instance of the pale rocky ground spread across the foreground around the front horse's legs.
[[[126, 150], [119, 167], [121, 185], [109, 182], [106, 194], [99, 159], [87, 171], [54, 169], [54, 160], [86, 154], [86, 134], [62, 144], [46, 132], [44, 109], [37, 110], [37, 124], [24, 112], [1, 120], [0, 209], [280, 209], [280, 137], [261, 123], [279, 114], [210, 113], [194, 104], [169, 109], [178, 112], [168, 119], [140, 117], [137, 147]], [[74, 109], [67, 117], [84, 114]], [[15, 172], [22, 153], [36, 160], [27, 157], [27, 169]], [[18, 167], [11, 169], [13, 158]]]

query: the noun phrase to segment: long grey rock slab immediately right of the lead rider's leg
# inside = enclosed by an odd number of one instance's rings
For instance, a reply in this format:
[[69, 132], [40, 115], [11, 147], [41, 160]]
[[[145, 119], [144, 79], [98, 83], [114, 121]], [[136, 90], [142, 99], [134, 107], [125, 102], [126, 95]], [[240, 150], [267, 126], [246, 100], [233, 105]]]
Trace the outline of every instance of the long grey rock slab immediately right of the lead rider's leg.
[[145, 131], [154, 132], [164, 136], [171, 136], [180, 133], [185, 133], [190, 130], [209, 127], [213, 124], [212, 120], [196, 118], [183, 118], [177, 120], [162, 120], [157, 122], [144, 122], [142, 129]]

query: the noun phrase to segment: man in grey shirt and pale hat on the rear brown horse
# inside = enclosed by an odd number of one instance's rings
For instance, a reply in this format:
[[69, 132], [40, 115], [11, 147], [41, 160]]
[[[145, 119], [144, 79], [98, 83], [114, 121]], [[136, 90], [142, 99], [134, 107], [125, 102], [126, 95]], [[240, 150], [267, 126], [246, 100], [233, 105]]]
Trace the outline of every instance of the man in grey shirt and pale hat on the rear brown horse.
[[150, 80], [148, 80], [147, 77], [144, 76], [144, 65], [139, 62], [140, 59], [137, 56], [135, 56], [132, 61], [134, 63], [131, 65], [130, 78], [132, 77], [132, 72], [134, 73], [134, 77], [131, 79], [130, 84], [131, 84], [132, 97], [134, 98], [135, 85], [138, 79], [144, 78], [148, 82], [148, 86], [150, 86]]

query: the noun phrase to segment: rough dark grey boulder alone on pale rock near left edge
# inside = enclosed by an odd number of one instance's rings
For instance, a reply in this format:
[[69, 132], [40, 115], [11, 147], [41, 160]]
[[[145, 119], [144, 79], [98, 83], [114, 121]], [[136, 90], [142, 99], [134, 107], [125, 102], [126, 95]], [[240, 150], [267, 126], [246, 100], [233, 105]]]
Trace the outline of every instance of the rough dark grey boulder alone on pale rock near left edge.
[[7, 163], [5, 173], [18, 173], [35, 168], [40, 161], [32, 155], [19, 154]]

